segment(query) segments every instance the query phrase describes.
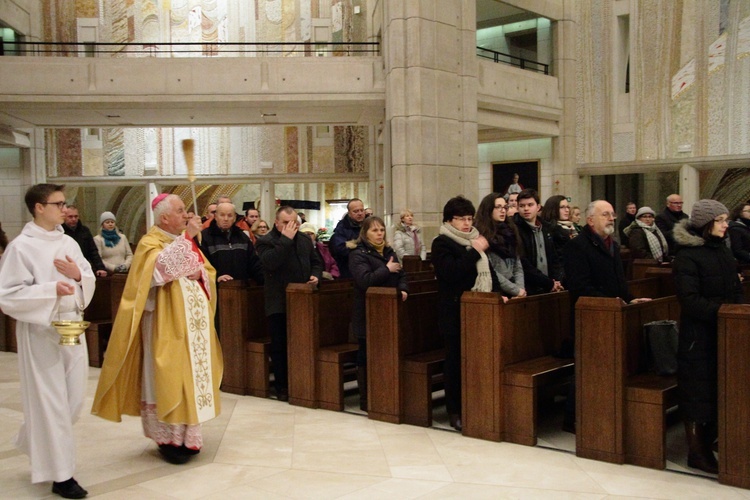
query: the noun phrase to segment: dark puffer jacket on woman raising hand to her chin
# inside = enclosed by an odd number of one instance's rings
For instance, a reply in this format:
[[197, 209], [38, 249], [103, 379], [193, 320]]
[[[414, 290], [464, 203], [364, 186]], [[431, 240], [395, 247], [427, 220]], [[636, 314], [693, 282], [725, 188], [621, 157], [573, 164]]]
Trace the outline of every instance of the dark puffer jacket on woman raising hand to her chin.
[[389, 259], [398, 262], [396, 252], [391, 247], [383, 249], [383, 255], [367, 243], [360, 242], [349, 254], [349, 270], [354, 279], [354, 303], [352, 304], [352, 331], [357, 338], [365, 338], [367, 333], [366, 294], [371, 286], [394, 287], [399, 292], [408, 292], [406, 273], [401, 269], [392, 273], [386, 267]]

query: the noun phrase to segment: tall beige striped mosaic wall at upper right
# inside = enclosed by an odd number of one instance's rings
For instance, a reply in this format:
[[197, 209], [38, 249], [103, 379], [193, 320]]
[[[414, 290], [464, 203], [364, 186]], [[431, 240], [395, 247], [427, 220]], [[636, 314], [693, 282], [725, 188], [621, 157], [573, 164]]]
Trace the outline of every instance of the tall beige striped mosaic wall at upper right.
[[[750, 153], [750, 2], [637, 0], [630, 23], [634, 147], [612, 127], [611, 2], [578, 2], [579, 163]], [[690, 152], [678, 152], [689, 145]], [[701, 172], [701, 196], [750, 199], [750, 168]]]

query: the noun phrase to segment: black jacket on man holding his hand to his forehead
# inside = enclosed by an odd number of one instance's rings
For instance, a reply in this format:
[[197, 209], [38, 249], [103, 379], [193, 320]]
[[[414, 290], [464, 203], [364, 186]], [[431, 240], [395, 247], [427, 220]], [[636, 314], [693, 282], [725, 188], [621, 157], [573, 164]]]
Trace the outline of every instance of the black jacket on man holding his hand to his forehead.
[[255, 248], [263, 266], [266, 316], [286, 314], [286, 286], [307, 283], [310, 276], [320, 279], [323, 273], [320, 254], [306, 234], [297, 232], [290, 240], [276, 226], [258, 238]]

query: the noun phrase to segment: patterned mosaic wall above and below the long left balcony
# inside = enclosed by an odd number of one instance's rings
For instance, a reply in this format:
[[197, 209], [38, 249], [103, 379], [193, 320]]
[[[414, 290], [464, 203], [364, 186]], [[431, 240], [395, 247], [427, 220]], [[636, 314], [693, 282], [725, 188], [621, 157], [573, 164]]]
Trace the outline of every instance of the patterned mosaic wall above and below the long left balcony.
[[[96, 18], [99, 41], [201, 42], [204, 56], [235, 57], [215, 44], [309, 42], [321, 25], [330, 28], [332, 41], [365, 41], [366, 7], [364, 0], [44, 0], [44, 30], [47, 41], [75, 41], [77, 19]], [[301, 47], [281, 55], [314, 56]], [[196, 141], [198, 175], [259, 174], [268, 166], [274, 173], [368, 171], [366, 127], [331, 127], [325, 134], [317, 128], [102, 129], [99, 142], [83, 144], [77, 129], [51, 130], [48, 176], [184, 176], [180, 144], [187, 138]]]

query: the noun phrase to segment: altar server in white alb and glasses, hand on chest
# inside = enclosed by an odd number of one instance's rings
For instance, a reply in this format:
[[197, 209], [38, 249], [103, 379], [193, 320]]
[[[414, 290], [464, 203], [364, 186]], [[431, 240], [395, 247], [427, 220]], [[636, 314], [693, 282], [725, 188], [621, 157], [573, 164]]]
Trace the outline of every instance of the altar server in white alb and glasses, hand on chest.
[[86, 490], [73, 479], [73, 423], [86, 394], [86, 340], [61, 346], [50, 323], [78, 319], [94, 295], [96, 278], [78, 243], [60, 226], [63, 187], [37, 184], [26, 192], [34, 220], [0, 260], [0, 308], [17, 321], [24, 421], [16, 445], [29, 455], [31, 482], [53, 481], [53, 493], [83, 498]]

